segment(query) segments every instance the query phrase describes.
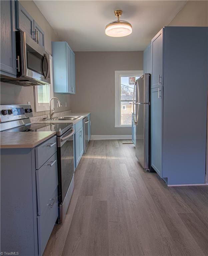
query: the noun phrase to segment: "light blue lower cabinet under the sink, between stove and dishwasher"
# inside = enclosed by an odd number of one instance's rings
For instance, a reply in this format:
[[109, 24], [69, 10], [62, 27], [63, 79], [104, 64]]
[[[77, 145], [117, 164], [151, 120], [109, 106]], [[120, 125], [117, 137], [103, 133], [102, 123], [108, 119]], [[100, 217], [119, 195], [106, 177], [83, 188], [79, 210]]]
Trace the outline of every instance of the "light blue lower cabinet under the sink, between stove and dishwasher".
[[[82, 120], [81, 120], [82, 122]], [[76, 127], [76, 125], [75, 125]], [[83, 126], [75, 133], [75, 167], [77, 168], [79, 161], [83, 155]]]

